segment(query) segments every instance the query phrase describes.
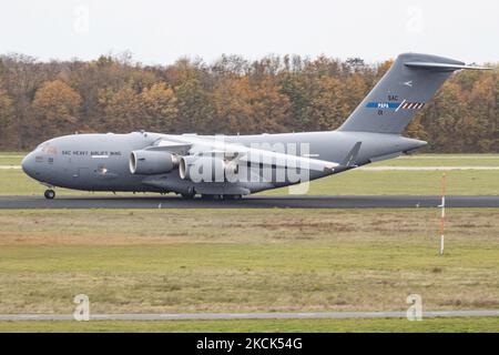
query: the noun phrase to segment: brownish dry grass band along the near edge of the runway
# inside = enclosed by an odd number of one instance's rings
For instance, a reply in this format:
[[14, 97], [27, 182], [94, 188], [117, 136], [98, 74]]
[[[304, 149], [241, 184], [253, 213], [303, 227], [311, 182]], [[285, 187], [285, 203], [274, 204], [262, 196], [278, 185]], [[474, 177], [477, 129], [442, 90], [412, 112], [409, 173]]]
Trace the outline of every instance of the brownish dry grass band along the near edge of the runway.
[[[497, 242], [499, 210], [451, 210], [454, 241]], [[2, 211], [0, 245], [388, 242], [435, 239], [439, 211], [85, 210]]]

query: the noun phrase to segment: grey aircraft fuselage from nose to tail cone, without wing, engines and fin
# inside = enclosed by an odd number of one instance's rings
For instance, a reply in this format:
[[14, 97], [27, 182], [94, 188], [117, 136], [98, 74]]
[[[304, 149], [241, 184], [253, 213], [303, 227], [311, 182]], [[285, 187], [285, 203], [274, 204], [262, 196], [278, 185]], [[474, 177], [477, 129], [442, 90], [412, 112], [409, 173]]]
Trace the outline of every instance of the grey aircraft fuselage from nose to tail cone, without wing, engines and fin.
[[[22, 169], [31, 178], [48, 186], [83, 191], [176, 192], [196, 191], [203, 194], [247, 194], [281, 187], [296, 182], [247, 181], [235, 183], [201, 182], [183, 180], [179, 170], [164, 174], [141, 175], [130, 171], [132, 151], [151, 146], [157, 140], [192, 141], [217, 139], [246, 146], [257, 144], [264, 150], [284, 149], [286, 154], [299, 154], [324, 161], [342, 161], [356, 142], [361, 142], [356, 166], [371, 161], [397, 156], [426, 145], [426, 142], [397, 134], [366, 132], [307, 132], [258, 135], [169, 135], [150, 132], [129, 134], [74, 134], [54, 138], [41, 143], [22, 161]], [[298, 146], [296, 151], [296, 146]], [[301, 148], [306, 154], [301, 154]], [[338, 173], [352, 168], [339, 168]], [[329, 175], [310, 172], [309, 180]]]

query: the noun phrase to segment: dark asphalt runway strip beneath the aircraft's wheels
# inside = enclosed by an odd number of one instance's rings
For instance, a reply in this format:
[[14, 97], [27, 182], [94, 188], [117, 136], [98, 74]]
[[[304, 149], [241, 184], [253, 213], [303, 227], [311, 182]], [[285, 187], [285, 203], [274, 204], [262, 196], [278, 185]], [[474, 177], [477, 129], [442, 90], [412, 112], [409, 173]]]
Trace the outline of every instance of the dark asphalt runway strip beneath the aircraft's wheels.
[[[0, 210], [37, 209], [417, 209], [437, 207], [440, 196], [418, 195], [252, 195], [235, 201], [179, 196], [0, 196]], [[447, 196], [446, 207], [499, 207], [499, 196]]]

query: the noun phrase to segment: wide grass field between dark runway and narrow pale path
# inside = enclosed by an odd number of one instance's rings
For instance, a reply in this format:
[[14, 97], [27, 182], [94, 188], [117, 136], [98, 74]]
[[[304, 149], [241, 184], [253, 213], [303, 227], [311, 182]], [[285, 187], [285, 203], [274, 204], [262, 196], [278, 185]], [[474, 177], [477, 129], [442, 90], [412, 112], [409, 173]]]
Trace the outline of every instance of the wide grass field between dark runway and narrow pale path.
[[[1, 212], [0, 313], [499, 307], [497, 210]], [[193, 222], [195, 221], [195, 223]]]

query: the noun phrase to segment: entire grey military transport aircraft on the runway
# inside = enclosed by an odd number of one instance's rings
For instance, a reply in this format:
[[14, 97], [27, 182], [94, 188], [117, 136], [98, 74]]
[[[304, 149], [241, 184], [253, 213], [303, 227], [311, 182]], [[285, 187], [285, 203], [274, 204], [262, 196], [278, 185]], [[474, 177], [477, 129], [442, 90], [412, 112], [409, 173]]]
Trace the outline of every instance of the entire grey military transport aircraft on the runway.
[[84, 191], [175, 192], [185, 199], [240, 199], [396, 158], [427, 142], [401, 136], [457, 70], [486, 69], [400, 54], [336, 131], [258, 135], [133, 132], [73, 134], [41, 143], [23, 171], [48, 186]]

